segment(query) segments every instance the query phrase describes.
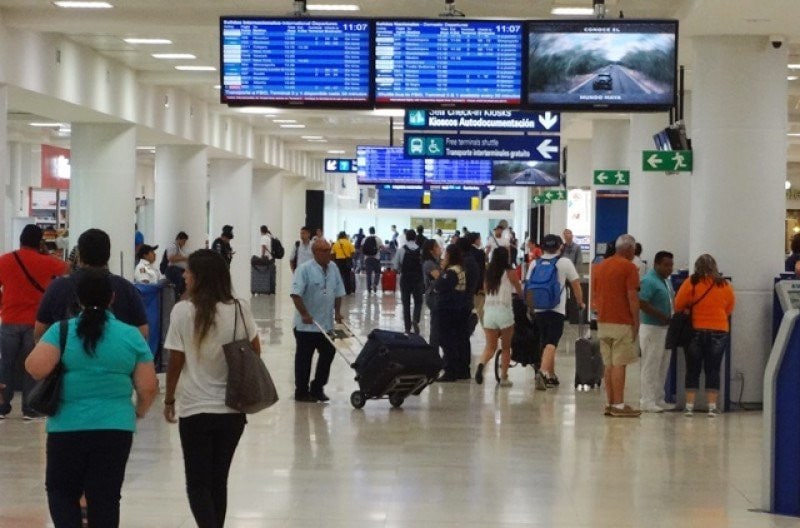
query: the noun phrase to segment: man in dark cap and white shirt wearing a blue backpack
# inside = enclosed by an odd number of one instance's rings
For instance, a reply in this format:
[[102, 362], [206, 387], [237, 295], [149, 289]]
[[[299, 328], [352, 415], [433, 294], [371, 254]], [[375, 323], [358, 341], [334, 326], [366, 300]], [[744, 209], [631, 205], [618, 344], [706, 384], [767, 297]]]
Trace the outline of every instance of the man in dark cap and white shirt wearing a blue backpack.
[[[564, 316], [567, 305], [566, 285], [572, 286], [575, 292], [578, 306], [583, 308], [583, 293], [581, 292], [580, 275], [575, 270], [575, 265], [568, 258], [560, 258], [561, 237], [558, 235], [545, 235], [542, 239], [542, 256], [531, 262], [528, 268], [528, 280], [533, 274], [534, 268], [544, 261], [555, 259], [556, 272], [558, 273], [558, 284], [561, 285], [561, 298], [558, 304], [548, 309], [535, 309], [536, 317], [534, 321], [539, 329], [540, 344], [544, 347], [542, 351], [542, 365], [536, 373], [536, 389], [545, 390], [559, 385], [556, 376], [556, 348], [564, 333]], [[527, 282], [527, 281], [526, 281]]]

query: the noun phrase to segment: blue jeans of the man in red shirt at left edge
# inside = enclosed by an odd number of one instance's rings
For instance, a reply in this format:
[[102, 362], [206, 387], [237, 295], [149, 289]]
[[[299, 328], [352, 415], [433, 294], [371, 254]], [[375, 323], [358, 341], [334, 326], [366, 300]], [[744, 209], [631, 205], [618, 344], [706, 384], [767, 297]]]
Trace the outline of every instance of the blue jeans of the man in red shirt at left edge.
[[[17, 365], [23, 365], [28, 354], [33, 350], [33, 325], [0, 324], [0, 383], [4, 383], [3, 404], [0, 405], [0, 414], [11, 412], [11, 400], [14, 398], [14, 377]], [[22, 380], [22, 412], [23, 414], [37, 414], [28, 409], [28, 394], [36, 381], [25, 372]]]

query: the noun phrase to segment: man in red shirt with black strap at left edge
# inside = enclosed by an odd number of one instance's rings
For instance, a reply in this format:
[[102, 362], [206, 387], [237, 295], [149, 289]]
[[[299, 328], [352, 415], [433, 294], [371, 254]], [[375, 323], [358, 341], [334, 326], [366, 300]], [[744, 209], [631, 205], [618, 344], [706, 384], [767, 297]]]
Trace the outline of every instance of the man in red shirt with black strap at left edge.
[[[0, 418], [11, 412], [11, 399], [14, 397], [14, 373], [18, 363], [24, 363], [33, 350], [33, 326], [36, 310], [44, 291], [54, 277], [69, 272], [66, 262], [39, 253], [42, 230], [34, 225], [26, 225], [19, 237], [19, 251], [6, 253], [0, 257]], [[34, 385], [33, 378], [25, 373], [22, 384], [22, 414], [26, 419], [36, 418], [36, 413], [28, 409], [28, 393]]]

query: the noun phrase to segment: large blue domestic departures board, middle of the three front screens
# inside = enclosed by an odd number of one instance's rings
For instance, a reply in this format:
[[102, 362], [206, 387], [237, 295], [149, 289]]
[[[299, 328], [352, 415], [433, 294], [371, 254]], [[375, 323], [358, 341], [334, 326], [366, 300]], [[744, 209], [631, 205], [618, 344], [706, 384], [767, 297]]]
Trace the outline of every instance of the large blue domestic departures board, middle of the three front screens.
[[376, 105], [518, 105], [523, 23], [375, 22]]

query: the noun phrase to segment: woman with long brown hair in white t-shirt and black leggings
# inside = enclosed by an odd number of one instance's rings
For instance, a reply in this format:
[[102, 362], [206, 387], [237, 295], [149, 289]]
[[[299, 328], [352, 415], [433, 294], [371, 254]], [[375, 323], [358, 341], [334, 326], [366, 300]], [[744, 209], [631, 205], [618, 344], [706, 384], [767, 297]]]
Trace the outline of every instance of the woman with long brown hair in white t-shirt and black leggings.
[[217, 252], [189, 255], [184, 278], [187, 300], [173, 308], [164, 343], [169, 350], [164, 417], [178, 422], [186, 492], [197, 526], [220, 528], [228, 473], [247, 422], [225, 405], [228, 365], [222, 346], [246, 336], [260, 353], [261, 343], [250, 307], [233, 297], [228, 264]]

